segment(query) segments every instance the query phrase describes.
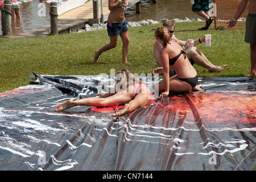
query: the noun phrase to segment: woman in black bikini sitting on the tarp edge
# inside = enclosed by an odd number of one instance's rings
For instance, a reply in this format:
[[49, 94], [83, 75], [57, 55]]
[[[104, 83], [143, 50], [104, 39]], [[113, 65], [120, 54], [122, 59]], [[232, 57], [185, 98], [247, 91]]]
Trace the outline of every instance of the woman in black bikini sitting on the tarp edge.
[[[168, 30], [164, 26], [159, 26], [155, 30], [155, 38], [163, 44], [161, 60], [163, 64], [163, 80], [155, 84], [155, 91], [161, 93], [160, 97], [167, 97], [169, 92], [191, 92], [201, 91], [197, 86], [197, 72], [189, 63], [183, 48], [176, 42], [170, 42]], [[170, 66], [173, 67], [177, 75], [169, 77]]]

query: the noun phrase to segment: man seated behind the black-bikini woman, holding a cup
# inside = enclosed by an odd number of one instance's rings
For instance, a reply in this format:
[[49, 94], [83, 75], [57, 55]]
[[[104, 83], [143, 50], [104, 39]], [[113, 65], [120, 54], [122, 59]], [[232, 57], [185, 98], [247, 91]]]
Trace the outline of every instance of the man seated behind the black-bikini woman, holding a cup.
[[[194, 44], [189, 43], [188, 41], [186, 42], [186, 41], [174, 38], [173, 35], [175, 32], [175, 24], [169, 20], [164, 22], [163, 26], [167, 28], [171, 41], [178, 43], [181, 47], [183, 47], [183, 49], [184, 48], [187, 49], [189, 46], [196, 46], [197, 44], [205, 42], [205, 36], [201, 39], [194, 40]], [[160, 59], [160, 51], [162, 50], [162, 48], [163, 48], [163, 45], [160, 44], [158, 40], [156, 40], [154, 44], [154, 55], [155, 55], [156, 63], [158, 64], [159, 68], [156, 68], [154, 70], [154, 73], [159, 73], [159, 74], [162, 73], [162, 61]], [[226, 66], [228, 66], [227, 64], [222, 66], [213, 65], [212, 63], [210, 63], [207, 57], [205, 57], [203, 52], [201, 52], [200, 49], [196, 47], [193, 47], [193, 51], [186, 51], [186, 54], [187, 54], [188, 60], [191, 62], [192, 65], [196, 63], [201, 67], [207, 68], [209, 72], [221, 72], [223, 69], [226, 68]]]

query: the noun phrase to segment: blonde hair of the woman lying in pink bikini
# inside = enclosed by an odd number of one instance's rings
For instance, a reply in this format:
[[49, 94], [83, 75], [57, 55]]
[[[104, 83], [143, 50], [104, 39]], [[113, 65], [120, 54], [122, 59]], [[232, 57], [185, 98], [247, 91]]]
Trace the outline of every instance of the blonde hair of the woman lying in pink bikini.
[[128, 69], [121, 69], [117, 72], [115, 84], [116, 92], [125, 90], [128, 88], [128, 86], [135, 84], [140, 84], [140, 81]]

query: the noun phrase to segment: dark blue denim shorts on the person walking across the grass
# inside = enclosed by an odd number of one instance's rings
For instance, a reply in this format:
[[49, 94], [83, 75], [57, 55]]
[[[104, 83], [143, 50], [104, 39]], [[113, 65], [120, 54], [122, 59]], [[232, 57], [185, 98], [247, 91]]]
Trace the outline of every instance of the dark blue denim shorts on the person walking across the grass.
[[125, 19], [122, 22], [108, 22], [107, 30], [109, 36], [117, 36], [128, 30], [127, 22]]

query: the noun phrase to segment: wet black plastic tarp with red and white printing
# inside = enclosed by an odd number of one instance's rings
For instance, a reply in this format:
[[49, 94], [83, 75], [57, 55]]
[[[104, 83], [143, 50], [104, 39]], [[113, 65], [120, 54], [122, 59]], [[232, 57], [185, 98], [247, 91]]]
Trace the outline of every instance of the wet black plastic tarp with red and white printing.
[[[123, 106], [54, 111], [113, 87], [113, 76], [31, 76], [30, 85], [0, 93], [0, 170], [256, 167], [255, 78], [200, 77], [204, 92], [155, 96], [150, 106], [113, 117]], [[139, 78], [153, 91], [154, 77]]]

